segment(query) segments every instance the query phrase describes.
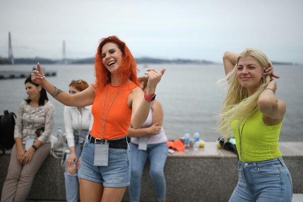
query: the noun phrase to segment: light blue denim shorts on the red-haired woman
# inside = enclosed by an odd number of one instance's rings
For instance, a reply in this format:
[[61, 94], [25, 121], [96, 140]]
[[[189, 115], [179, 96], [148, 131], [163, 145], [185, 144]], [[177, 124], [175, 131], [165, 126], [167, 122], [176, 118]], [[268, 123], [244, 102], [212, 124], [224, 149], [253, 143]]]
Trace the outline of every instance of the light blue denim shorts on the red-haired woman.
[[[124, 137], [125, 138], [125, 137]], [[125, 187], [130, 184], [130, 149], [109, 148], [108, 166], [94, 166], [94, 144], [86, 138], [82, 155], [79, 177], [103, 184], [105, 187]]]

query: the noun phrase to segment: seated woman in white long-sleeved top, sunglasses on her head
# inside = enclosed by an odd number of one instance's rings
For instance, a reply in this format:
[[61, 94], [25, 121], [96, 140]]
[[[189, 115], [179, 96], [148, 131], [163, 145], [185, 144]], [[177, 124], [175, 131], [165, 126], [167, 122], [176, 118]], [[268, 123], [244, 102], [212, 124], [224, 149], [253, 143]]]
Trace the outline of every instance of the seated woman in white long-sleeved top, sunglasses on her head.
[[[88, 84], [84, 80], [72, 80], [69, 84], [69, 93], [75, 94], [87, 87]], [[82, 153], [82, 145], [92, 127], [92, 123], [91, 106], [65, 106], [64, 124], [70, 154], [64, 157], [65, 164], [63, 168], [65, 170], [66, 200], [69, 202], [78, 200], [79, 179], [77, 170], [80, 168], [79, 159]]]

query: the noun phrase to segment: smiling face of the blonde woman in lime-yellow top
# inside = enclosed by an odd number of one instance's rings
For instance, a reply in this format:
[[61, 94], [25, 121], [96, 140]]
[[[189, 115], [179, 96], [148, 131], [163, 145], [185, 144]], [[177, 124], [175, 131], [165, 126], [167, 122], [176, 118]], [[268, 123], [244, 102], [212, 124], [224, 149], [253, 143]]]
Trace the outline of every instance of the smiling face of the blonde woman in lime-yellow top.
[[262, 77], [263, 68], [255, 58], [244, 56], [239, 59], [237, 80], [242, 87], [257, 89], [260, 86]]

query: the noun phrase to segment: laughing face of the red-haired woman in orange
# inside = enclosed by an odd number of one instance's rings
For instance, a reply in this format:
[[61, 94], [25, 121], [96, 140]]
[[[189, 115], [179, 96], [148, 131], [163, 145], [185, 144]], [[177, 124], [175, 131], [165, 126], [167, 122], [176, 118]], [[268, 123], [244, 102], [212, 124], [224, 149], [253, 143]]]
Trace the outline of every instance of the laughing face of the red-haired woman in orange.
[[108, 42], [104, 44], [101, 51], [102, 63], [111, 73], [117, 73], [122, 64], [122, 52], [117, 44]]

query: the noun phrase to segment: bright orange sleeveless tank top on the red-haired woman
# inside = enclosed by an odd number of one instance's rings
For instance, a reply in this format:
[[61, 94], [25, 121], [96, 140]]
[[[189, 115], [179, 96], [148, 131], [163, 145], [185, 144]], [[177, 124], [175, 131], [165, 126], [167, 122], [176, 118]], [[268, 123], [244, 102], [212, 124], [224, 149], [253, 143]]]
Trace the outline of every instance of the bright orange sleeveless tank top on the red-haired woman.
[[[100, 93], [96, 94], [91, 108], [93, 125], [90, 133], [95, 138], [101, 138], [102, 134], [102, 107], [107, 87], [108, 86], [105, 86]], [[121, 85], [109, 85], [104, 104], [104, 118], [120, 87]], [[103, 139], [117, 139], [127, 135], [132, 111], [127, 106], [127, 99], [131, 91], [136, 87], [138, 86], [133, 82], [122, 85], [121, 90], [112, 104], [106, 118]]]

